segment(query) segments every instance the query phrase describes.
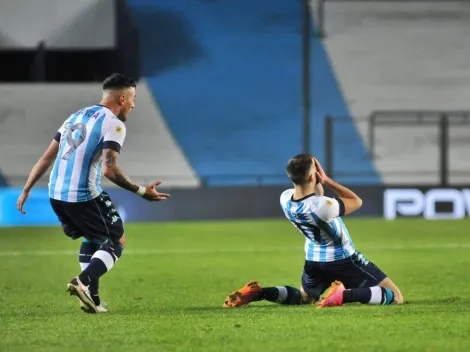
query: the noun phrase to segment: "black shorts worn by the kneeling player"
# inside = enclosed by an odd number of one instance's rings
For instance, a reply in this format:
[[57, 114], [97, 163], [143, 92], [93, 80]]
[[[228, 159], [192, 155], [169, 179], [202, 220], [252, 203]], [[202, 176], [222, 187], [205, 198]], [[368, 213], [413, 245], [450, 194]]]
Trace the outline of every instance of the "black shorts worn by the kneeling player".
[[305, 261], [302, 288], [309, 297], [318, 300], [335, 280], [344, 287], [360, 288], [377, 286], [387, 275], [374, 263], [356, 252], [351, 257], [333, 262]]

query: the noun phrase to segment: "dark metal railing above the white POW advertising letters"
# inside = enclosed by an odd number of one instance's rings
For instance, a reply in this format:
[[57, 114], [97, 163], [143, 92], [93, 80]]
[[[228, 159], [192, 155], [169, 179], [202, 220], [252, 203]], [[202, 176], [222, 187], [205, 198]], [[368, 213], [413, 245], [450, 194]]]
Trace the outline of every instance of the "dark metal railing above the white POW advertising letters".
[[[375, 111], [362, 118], [326, 116], [324, 157], [327, 173], [332, 177], [360, 177], [370, 175], [370, 172], [353, 175], [334, 167], [335, 158], [340, 153], [348, 153], [348, 140], [347, 136], [341, 135], [341, 124], [355, 124], [370, 160], [375, 163], [388, 161], [397, 166], [393, 170], [381, 170], [382, 175], [435, 175], [436, 184], [442, 187], [462, 182], [452, 182], [451, 177], [470, 179], [470, 164], [465, 161], [470, 140], [464, 138], [467, 132], [470, 133], [470, 111], [388, 110]], [[403, 163], [405, 156], [412, 157], [413, 154], [417, 161], [428, 158], [427, 165], [431, 167], [400, 164], [400, 159]]]

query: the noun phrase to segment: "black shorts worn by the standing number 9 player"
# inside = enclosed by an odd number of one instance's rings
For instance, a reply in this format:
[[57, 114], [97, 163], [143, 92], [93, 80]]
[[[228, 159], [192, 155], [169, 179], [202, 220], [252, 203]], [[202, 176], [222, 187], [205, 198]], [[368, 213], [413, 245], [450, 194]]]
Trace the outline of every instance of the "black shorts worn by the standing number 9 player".
[[83, 236], [90, 241], [117, 243], [124, 234], [121, 217], [106, 192], [87, 202], [50, 201], [64, 233], [72, 239]]

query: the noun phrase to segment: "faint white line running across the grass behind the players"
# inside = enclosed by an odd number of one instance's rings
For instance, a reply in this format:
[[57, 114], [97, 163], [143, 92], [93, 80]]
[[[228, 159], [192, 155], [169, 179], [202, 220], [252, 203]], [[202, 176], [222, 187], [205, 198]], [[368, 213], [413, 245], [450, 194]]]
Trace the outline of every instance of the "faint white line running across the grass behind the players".
[[[421, 245], [387, 245], [387, 246], [362, 246], [359, 251], [373, 250], [416, 250], [416, 249], [468, 249], [470, 243], [429, 243]], [[125, 249], [124, 255], [151, 255], [151, 254], [218, 254], [218, 253], [270, 253], [270, 252], [303, 252], [300, 247], [277, 247], [277, 248], [213, 248], [213, 249]], [[77, 255], [77, 250], [48, 250], [48, 251], [11, 251], [0, 252], [0, 257], [19, 256], [54, 256], [54, 255]]]

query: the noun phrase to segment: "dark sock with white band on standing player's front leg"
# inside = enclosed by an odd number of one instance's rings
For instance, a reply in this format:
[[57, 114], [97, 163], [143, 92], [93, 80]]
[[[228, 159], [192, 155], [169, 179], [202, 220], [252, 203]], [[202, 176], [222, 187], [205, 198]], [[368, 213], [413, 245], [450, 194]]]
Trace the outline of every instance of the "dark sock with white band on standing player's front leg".
[[122, 246], [120, 244], [99, 249], [93, 254], [90, 264], [78, 278], [85, 286], [90, 285], [93, 279], [98, 279], [111, 270], [121, 254]]

